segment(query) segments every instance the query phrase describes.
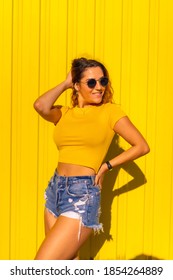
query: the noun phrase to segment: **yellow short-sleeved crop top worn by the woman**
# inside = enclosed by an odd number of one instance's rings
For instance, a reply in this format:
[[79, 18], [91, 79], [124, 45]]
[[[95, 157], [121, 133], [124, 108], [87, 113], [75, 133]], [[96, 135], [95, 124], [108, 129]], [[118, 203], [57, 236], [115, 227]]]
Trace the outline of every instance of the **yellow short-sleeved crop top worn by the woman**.
[[113, 103], [61, 107], [61, 112], [54, 130], [59, 162], [87, 166], [97, 172], [113, 139], [113, 127], [125, 113]]

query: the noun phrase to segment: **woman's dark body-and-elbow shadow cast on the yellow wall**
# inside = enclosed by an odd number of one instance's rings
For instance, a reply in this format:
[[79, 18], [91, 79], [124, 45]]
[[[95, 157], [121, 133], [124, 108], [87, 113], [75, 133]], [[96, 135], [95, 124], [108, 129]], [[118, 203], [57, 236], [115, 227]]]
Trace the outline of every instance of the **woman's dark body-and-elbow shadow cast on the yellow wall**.
[[[106, 155], [105, 161], [122, 153], [124, 150], [119, 146], [119, 137], [115, 135], [108, 153]], [[117, 180], [120, 169], [124, 169], [128, 174], [130, 174], [133, 179], [125, 184], [124, 186], [113, 190], [115, 182]], [[132, 161], [126, 164], [122, 164], [118, 168], [113, 169], [111, 172], [107, 173], [104, 178], [103, 188], [102, 188], [102, 203], [101, 203], [101, 216], [100, 222], [103, 223], [104, 232], [99, 235], [92, 236], [80, 250], [81, 260], [92, 260], [95, 258], [105, 241], [112, 239], [110, 235], [111, 228], [111, 206], [113, 199], [123, 193], [132, 191], [146, 183], [146, 178], [140, 168]]]

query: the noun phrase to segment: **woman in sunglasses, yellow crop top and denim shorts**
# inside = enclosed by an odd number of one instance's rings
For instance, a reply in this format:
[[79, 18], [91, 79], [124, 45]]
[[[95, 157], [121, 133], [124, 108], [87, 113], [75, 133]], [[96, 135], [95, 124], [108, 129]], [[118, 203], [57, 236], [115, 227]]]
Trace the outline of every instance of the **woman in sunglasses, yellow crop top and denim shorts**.
[[[72, 88], [72, 107], [55, 106]], [[148, 144], [125, 113], [112, 103], [105, 66], [74, 59], [67, 78], [40, 96], [36, 111], [55, 124], [59, 162], [45, 192], [45, 234], [35, 259], [76, 259], [78, 250], [99, 223], [100, 193], [108, 170], [149, 152]], [[131, 147], [104, 162], [114, 133]]]

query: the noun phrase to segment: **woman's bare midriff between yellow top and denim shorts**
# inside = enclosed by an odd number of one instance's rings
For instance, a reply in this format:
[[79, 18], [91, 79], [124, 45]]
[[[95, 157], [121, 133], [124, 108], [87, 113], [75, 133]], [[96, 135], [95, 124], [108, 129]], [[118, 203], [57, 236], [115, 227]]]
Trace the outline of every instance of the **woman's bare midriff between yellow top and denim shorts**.
[[92, 168], [63, 162], [58, 163], [57, 172], [60, 176], [92, 176], [96, 174]]

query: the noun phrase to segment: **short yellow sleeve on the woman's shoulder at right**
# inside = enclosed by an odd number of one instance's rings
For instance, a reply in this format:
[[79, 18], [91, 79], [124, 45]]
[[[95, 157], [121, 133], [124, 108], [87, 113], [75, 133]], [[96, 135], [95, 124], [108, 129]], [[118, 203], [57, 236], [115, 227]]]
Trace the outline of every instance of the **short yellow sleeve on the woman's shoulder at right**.
[[114, 128], [118, 120], [120, 120], [122, 117], [127, 116], [126, 113], [121, 109], [121, 107], [115, 103], [109, 103], [108, 110], [110, 116], [110, 126], [112, 129]]

